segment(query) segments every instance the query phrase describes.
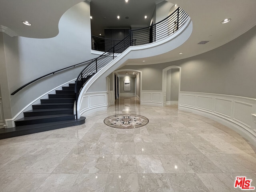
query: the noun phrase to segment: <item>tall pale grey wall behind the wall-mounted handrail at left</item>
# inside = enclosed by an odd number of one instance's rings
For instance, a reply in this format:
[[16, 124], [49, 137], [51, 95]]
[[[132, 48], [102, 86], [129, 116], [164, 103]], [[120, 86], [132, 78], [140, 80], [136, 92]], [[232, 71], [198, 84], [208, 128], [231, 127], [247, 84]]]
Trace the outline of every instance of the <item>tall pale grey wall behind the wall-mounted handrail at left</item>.
[[[64, 13], [59, 22], [59, 34], [54, 38], [11, 38], [4, 34], [5, 73], [9, 89], [5, 91], [10, 95], [11, 92], [35, 78], [94, 58], [90, 50], [90, 4], [88, 2], [81, 2]], [[4, 64], [1, 63], [1, 65]], [[83, 67], [51, 75], [10, 96], [11, 117], [35, 98], [76, 78]], [[2, 71], [0, 73], [2, 76]], [[0, 83], [2, 87], [2, 81]], [[4, 110], [8, 109], [4, 108]]]

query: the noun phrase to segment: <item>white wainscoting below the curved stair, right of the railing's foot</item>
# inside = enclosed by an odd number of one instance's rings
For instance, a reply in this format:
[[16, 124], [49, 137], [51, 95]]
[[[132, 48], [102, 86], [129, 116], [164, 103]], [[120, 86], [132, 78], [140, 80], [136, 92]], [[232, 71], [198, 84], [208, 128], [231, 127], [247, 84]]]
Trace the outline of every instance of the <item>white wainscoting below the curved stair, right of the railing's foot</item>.
[[90, 113], [108, 108], [107, 92], [88, 92], [82, 96], [79, 114], [86, 116]]

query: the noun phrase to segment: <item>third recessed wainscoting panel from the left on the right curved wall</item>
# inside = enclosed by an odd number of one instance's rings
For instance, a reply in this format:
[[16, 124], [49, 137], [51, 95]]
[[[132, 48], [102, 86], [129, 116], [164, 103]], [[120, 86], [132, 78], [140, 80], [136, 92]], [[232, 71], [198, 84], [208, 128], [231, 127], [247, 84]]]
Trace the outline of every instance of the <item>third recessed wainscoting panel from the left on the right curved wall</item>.
[[231, 118], [232, 100], [215, 98], [215, 113]]

